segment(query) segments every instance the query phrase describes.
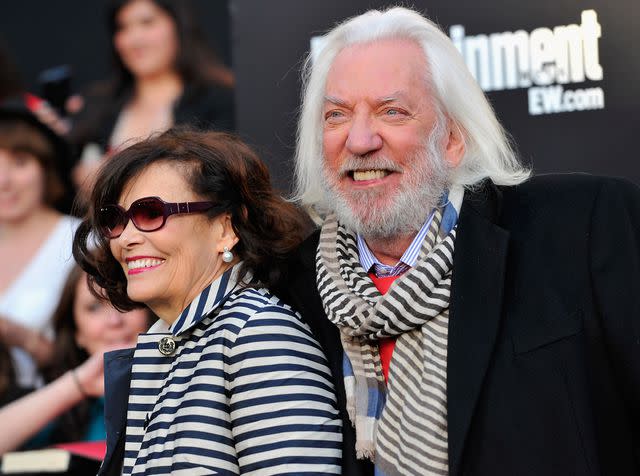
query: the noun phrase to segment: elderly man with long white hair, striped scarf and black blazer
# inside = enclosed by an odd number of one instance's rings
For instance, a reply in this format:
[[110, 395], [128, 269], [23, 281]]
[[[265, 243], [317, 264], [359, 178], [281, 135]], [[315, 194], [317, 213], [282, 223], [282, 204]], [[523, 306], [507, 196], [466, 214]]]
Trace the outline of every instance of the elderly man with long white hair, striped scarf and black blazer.
[[640, 192], [529, 179], [445, 34], [337, 26], [305, 76], [280, 293], [330, 359], [343, 474], [640, 471]]

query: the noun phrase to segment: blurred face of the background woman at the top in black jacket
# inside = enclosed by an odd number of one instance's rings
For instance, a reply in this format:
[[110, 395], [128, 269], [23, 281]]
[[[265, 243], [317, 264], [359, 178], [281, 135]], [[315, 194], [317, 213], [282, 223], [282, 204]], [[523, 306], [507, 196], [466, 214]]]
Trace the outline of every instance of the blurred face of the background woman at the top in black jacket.
[[133, 0], [116, 16], [113, 42], [120, 59], [136, 77], [173, 70], [178, 37], [173, 18], [151, 0]]

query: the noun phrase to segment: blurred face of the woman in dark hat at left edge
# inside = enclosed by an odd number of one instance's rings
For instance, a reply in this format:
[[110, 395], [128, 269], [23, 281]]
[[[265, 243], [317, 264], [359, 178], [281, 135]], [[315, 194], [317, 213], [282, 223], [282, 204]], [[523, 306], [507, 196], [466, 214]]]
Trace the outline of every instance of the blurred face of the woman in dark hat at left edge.
[[18, 222], [44, 205], [45, 172], [27, 152], [0, 148], [0, 222]]

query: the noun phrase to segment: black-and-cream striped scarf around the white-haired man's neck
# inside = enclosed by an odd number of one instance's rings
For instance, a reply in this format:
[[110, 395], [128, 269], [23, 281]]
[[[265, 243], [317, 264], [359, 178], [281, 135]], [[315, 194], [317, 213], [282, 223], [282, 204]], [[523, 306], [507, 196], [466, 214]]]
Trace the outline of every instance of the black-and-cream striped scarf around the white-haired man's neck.
[[[435, 210], [416, 267], [384, 296], [360, 266], [356, 236], [334, 215], [322, 227], [318, 290], [341, 331], [356, 453], [374, 461], [377, 474], [448, 474], [448, 308], [461, 202], [462, 190], [452, 190]], [[384, 337], [397, 337], [388, 389], [378, 348]]]

